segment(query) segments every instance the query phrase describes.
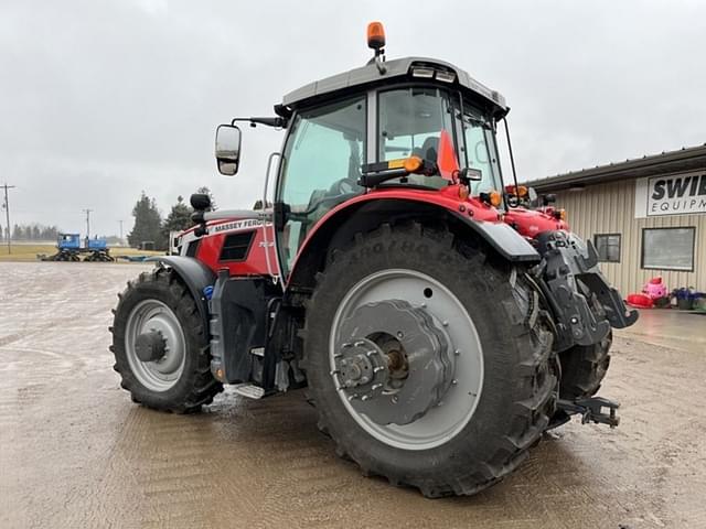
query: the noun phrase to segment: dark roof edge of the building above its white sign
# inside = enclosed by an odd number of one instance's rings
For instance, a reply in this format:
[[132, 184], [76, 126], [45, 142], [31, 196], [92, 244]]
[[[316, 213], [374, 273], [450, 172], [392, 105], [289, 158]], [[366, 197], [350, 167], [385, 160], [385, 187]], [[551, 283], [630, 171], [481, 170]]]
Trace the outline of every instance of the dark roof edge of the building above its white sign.
[[525, 182], [537, 192], [550, 193], [568, 188], [584, 187], [591, 184], [603, 184], [617, 180], [640, 179], [655, 174], [680, 173], [706, 168], [706, 143], [696, 147], [683, 147], [677, 151], [650, 154], [624, 162], [596, 165], [591, 169], [569, 171], [568, 173], [546, 179]]

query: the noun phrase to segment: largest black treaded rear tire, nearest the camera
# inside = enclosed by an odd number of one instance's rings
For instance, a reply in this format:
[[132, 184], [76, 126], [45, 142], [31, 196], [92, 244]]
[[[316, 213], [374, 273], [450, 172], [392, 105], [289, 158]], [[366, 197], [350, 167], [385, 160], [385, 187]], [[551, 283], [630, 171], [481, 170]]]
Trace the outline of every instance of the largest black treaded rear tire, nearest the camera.
[[[363, 428], [344, 404], [330, 371], [336, 311], [352, 289], [386, 270], [409, 270], [442, 284], [472, 321], [481, 344], [482, 390], [474, 396], [475, 407], [460, 430], [430, 449], [400, 447]], [[317, 279], [302, 333], [303, 366], [319, 428], [336, 443], [340, 456], [354, 461], [365, 475], [385, 476], [427, 497], [475, 494], [526, 457], [554, 413], [557, 378], [549, 364], [553, 335], [522, 273], [504, 261], [486, 259], [447, 230], [414, 224], [384, 225], [359, 235], [349, 249], [334, 253]], [[399, 298], [413, 299], [406, 292]], [[454, 373], [454, 378], [464, 375]], [[443, 395], [445, 401], [456, 398], [450, 396], [453, 389]], [[438, 409], [430, 408], [408, 425], [442, 413]]]

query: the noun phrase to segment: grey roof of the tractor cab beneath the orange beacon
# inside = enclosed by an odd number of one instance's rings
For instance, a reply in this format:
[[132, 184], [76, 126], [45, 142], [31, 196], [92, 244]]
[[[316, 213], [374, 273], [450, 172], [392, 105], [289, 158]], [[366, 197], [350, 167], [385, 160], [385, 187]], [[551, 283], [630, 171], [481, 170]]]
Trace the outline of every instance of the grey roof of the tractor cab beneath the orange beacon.
[[290, 91], [282, 98], [282, 106], [290, 109], [307, 106], [317, 102], [317, 99], [325, 99], [338, 94], [353, 91], [356, 88], [385, 86], [387, 84], [399, 83], [405, 78], [415, 80], [435, 82], [432, 78], [413, 77], [413, 67], [432, 68], [436, 72], [454, 73], [456, 78], [452, 83], [436, 79], [440, 86], [460, 87], [464, 95], [472, 99], [480, 99], [489, 104], [493, 110], [493, 115], [504, 116], [510, 110], [505, 102], [505, 98], [486, 86], [473, 79], [468, 73], [450, 63], [436, 58], [425, 57], [403, 57], [382, 63], [385, 72], [381, 73], [377, 64], [371, 61], [363, 67], [354, 68], [343, 74], [333, 75], [324, 79], [315, 80]]

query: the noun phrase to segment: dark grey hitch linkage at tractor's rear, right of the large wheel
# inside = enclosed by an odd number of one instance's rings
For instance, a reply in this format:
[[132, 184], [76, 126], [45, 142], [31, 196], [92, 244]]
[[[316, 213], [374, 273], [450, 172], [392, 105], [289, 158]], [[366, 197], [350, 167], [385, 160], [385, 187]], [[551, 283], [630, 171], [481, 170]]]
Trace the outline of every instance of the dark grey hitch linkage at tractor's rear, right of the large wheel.
[[[590, 241], [560, 230], [546, 231], [537, 241], [543, 260], [536, 276], [556, 319], [558, 350], [575, 344], [596, 344], [608, 335], [611, 326], [623, 328], [638, 320], [638, 311], [625, 307], [618, 291], [600, 272], [598, 253]], [[596, 294], [607, 321], [596, 319], [579, 282]]]

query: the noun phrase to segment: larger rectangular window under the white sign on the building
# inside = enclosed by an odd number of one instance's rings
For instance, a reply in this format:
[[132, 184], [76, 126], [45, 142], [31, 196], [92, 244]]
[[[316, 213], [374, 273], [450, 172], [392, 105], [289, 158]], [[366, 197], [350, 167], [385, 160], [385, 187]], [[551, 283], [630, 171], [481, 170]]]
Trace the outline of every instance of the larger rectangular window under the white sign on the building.
[[694, 271], [696, 228], [643, 228], [642, 268]]

